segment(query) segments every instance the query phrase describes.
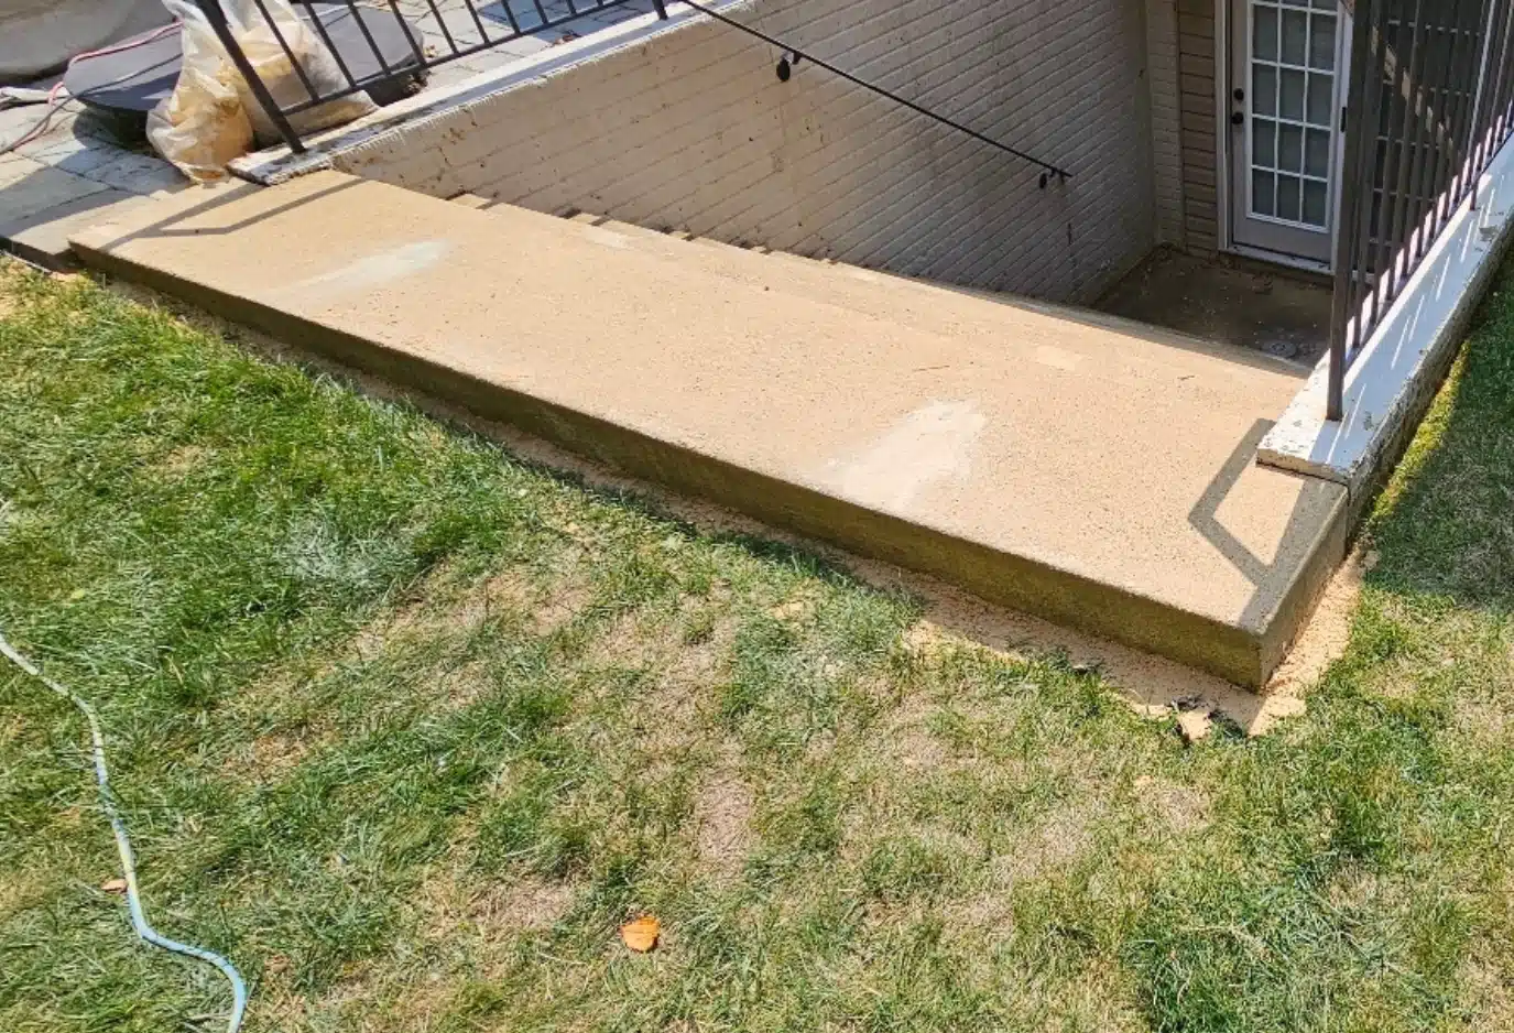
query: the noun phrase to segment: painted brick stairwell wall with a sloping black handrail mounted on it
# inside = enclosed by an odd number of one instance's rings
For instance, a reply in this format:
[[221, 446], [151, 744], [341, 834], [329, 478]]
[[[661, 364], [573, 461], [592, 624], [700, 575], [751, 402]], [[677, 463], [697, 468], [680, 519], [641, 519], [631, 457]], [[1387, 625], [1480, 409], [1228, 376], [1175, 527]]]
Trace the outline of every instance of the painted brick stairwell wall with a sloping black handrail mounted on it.
[[934, 280], [1087, 300], [1154, 244], [1146, 0], [724, 9], [1072, 171], [1039, 170], [709, 20], [410, 124], [339, 167]]

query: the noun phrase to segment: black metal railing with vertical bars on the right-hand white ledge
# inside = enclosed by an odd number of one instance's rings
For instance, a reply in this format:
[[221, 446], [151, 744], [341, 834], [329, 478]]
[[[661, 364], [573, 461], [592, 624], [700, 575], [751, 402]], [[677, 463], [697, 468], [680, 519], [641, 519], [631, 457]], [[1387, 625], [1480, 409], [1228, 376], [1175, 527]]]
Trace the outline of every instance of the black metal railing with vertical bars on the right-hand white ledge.
[[1514, 0], [1357, 0], [1326, 415], [1346, 371], [1508, 141]]

